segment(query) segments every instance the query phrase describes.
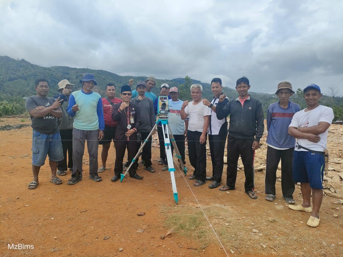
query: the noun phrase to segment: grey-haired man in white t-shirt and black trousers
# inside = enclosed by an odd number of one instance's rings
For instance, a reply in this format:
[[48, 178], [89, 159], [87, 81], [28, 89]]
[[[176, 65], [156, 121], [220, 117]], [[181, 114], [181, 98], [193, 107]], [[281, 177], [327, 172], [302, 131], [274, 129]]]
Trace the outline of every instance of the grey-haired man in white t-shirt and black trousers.
[[188, 179], [196, 179], [193, 186], [202, 186], [206, 180], [206, 139], [209, 129], [211, 109], [202, 103], [202, 86], [191, 85], [193, 101], [184, 101], [181, 107], [181, 119], [189, 116], [187, 141], [189, 162], [194, 168]]

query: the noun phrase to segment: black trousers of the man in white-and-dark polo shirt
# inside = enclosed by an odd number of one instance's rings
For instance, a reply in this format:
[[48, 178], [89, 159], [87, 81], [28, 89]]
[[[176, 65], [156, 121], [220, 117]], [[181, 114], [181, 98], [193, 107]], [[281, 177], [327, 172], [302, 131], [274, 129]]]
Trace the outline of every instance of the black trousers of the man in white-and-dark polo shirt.
[[212, 176], [214, 181], [221, 182], [224, 168], [224, 150], [227, 133], [222, 135], [209, 135], [209, 144], [212, 161]]

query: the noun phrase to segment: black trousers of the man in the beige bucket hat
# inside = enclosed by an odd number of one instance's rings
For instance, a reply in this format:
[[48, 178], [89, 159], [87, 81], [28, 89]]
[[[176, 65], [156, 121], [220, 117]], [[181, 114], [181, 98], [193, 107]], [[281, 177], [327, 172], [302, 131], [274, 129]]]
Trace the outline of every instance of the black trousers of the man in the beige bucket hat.
[[[57, 163], [57, 170], [66, 171], [73, 168], [73, 130], [60, 130], [64, 159]], [[67, 167], [68, 152], [68, 167]]]

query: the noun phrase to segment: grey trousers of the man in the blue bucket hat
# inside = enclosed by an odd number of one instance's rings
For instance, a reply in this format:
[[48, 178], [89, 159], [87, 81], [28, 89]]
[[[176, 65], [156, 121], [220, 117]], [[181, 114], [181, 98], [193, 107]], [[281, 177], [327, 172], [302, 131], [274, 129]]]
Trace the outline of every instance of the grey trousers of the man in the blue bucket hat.
[[98, 174], [99, 130], [73, 129], [73, 174], [78, 170], [82, 177], [82, 158], [87, 140], [89, 155], [89, 174]]

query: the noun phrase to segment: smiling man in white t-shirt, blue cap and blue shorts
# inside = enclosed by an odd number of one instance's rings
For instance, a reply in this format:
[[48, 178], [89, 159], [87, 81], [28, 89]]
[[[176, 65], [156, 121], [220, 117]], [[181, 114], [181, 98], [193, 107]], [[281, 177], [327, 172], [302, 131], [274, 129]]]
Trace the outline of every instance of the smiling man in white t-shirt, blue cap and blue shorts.
[[[310, 84], [304, 89], [307, 108], [296, 112], [288, 127], [288, 134], [297, 138], [293, 155], [293, 180], [300, 182], [303, 204], [288, 205], [292, 210], [311, 212], [310, 227], [319, 225], [319, 209], [323, 200], [324, 150], [333, 120], [330, 107], [319, 105], [319, 86]], [[311, 208], [311, 192], [312, 204]]]

